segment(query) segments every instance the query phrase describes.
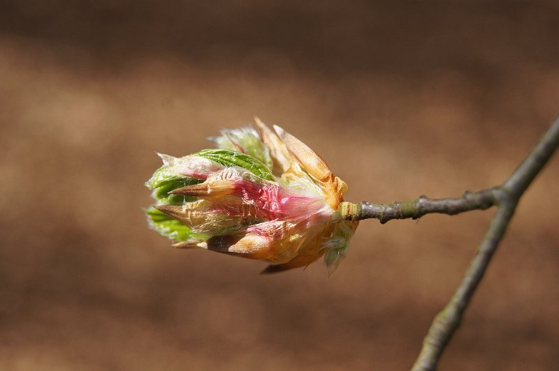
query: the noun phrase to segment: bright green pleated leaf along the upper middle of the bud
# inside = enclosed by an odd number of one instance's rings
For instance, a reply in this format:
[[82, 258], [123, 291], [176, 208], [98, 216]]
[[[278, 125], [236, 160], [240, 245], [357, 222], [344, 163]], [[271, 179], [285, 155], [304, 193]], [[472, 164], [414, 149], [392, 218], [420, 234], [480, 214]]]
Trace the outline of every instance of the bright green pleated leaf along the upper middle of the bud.
[[272, 172], [261, 160], [246, 153], [229, 151], [228, 149], [203, 149], [192, 156], [200, 156], [215, 161], [224, 166], [239, 166], [247, 169], [252, 174], [268, 181], [275, 181]]

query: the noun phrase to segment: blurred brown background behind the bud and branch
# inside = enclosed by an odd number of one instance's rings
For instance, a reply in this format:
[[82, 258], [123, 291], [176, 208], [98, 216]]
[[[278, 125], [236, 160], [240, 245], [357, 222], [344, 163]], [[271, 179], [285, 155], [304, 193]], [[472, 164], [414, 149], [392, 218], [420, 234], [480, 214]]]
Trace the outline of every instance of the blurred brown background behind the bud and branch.
[[[406, 370], [493, 211], [361, 222], [349, 257], [173, 250], [154, 151], [257, 114], [347, 199], [504, 180], [559, 109], [557, 1], [2, 1], [2, 370]], [[441, 370], [556, 370], [559, 158], [518, 208]]]

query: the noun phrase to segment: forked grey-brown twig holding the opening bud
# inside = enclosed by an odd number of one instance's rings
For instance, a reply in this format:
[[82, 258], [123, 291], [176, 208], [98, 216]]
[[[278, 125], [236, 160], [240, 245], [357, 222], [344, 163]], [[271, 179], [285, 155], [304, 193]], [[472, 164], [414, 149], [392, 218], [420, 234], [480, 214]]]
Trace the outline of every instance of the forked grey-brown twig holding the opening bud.
[[476, 255], [470, 262], [460, 285], [449, 303], [433, 320], [412, 371], [430, 371], [437, 368], [444, 348], [460, 325], [465, 309], [507, 231], [518, 202], [558, 147], [559, 117], [551, 123], [532, 151], [502, 185], [479, 192], [465, 192], [462, 197], [458, 198], [428, 199], [420, 196], [413, 201], [393, 202], [392, 204], [371, 204], [369, 202], [357, 205], [346, 202], [340, 204], [340, 213], [346, 219], [375, 218], [381, 223], [393, 219], [417, 219], [428, 213], [454, 215], [498, 206], [491, 225], [479, 244]]

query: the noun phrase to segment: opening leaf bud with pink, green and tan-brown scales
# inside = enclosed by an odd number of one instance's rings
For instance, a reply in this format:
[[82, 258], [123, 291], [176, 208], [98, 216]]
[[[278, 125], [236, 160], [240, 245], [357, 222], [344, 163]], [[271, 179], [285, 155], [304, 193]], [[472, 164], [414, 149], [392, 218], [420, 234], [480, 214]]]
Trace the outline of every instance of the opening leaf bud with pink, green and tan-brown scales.
[[270, 263], [263, 273], [321, 256], [333, 271], [358, 225], [338, 211], [347, 185], [303, 142], [256, 119], [223, 130], [205, 149], [164, 165], [146, 185], [150, 227], [176, 248], [203, 248]]

